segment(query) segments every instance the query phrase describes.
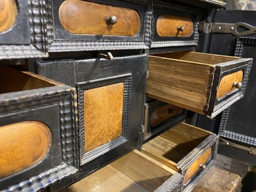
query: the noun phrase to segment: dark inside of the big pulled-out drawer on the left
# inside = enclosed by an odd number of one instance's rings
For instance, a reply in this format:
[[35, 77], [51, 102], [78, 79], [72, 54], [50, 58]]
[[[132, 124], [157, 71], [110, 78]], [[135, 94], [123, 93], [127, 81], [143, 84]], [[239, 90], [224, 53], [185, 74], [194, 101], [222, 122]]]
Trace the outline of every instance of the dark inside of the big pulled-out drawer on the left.
[[0, 93], [64, 85], [57, 81], [36, 75], [33, 72], [20, 71], [9, 66], [0, 66], [0, 83]]

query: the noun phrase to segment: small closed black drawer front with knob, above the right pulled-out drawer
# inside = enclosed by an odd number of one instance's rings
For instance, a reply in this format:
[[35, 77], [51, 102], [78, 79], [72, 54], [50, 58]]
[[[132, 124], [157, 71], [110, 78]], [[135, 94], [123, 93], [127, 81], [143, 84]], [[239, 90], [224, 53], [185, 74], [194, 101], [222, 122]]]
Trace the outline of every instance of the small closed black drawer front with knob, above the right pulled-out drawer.
[[153, 7], [151, 48], [197, 45], [199, 10], [162, 1], [154, 1]]

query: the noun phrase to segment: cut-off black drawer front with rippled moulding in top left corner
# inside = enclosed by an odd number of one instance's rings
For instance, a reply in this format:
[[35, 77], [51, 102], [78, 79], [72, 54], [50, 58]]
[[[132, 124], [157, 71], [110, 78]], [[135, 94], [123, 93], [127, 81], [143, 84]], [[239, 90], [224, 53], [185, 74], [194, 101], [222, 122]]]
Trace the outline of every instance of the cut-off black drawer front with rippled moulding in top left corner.
[[48, 3], [43, 0], [0, 2], [0, 59], [47, 56]]

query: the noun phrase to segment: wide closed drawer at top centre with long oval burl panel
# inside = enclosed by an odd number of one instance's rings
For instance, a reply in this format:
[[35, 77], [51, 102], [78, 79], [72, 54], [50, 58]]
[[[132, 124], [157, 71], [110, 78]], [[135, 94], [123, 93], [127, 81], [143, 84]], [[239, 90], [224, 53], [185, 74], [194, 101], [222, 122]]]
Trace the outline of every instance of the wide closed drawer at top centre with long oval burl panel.
[[146, 49], [146, 7], [146, 1], [54, 1], [49, 51]]

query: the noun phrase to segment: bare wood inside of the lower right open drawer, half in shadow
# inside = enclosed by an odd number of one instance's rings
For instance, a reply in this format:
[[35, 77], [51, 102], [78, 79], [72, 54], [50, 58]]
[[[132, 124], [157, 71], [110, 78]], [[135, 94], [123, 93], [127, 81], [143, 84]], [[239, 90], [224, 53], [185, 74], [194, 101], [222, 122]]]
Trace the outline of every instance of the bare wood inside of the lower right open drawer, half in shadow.
[[210, 135], [210, 132], [181, 123], [142, 146], [144, 153], [178, 171], [176, 164]]

